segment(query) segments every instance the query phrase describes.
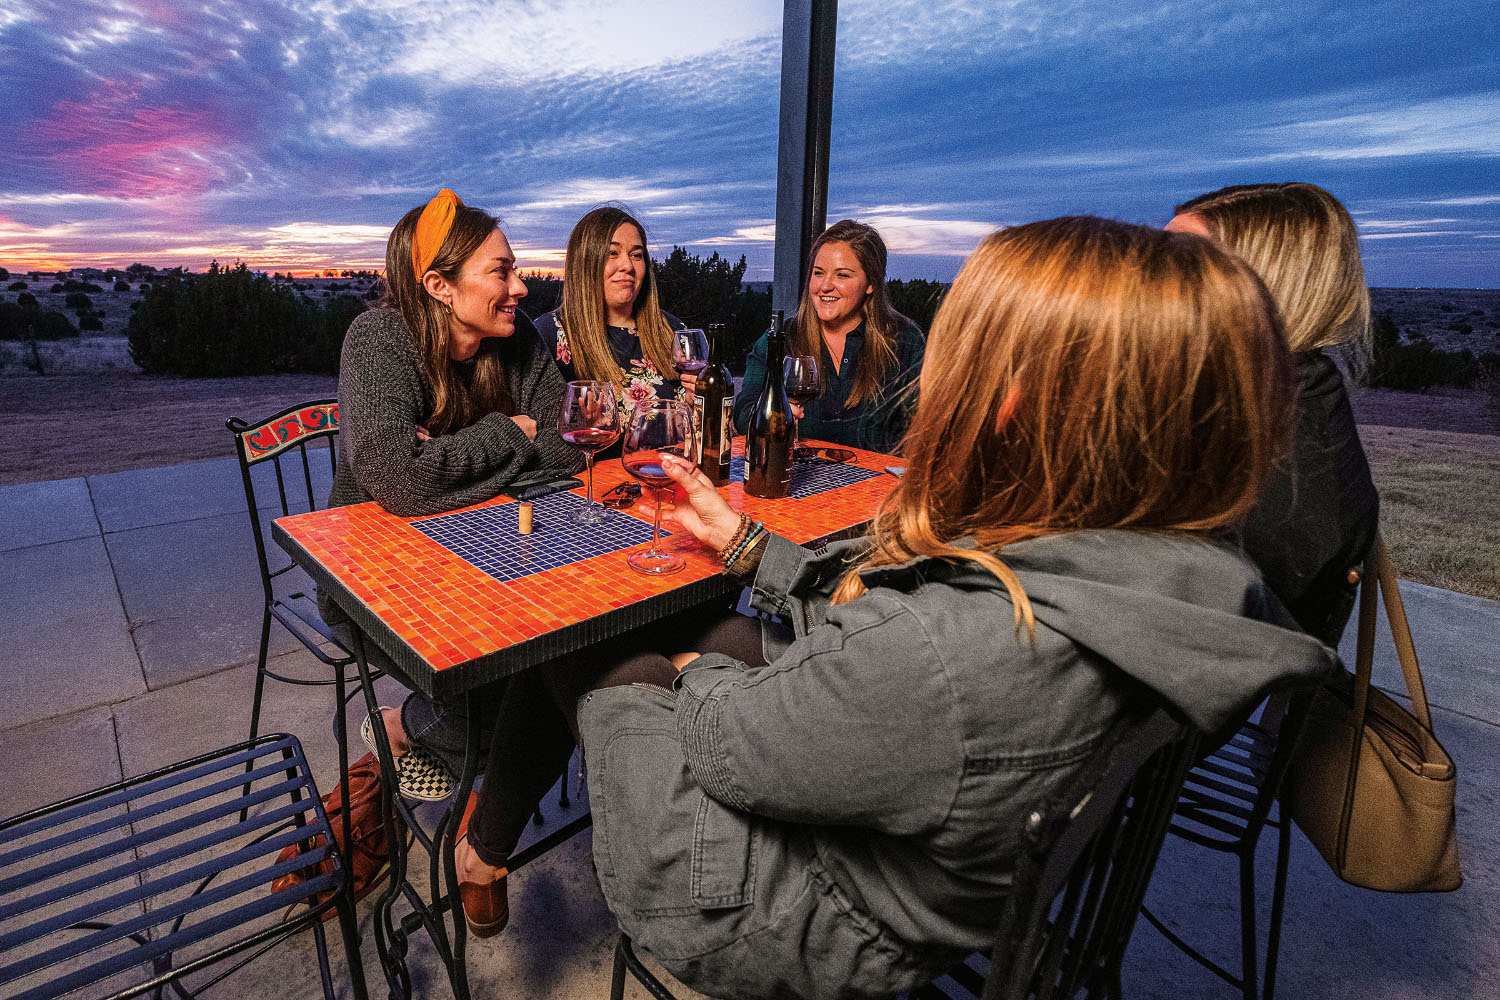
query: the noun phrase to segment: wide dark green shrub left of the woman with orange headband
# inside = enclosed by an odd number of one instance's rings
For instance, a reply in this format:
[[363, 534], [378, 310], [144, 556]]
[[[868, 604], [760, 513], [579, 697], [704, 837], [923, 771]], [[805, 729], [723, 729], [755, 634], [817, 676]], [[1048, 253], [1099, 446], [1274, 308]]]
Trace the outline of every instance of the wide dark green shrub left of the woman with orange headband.
[[159, 277], [130, 315], [130, 357], [152, 373], [226, 376], [339, 369], [352, 295], [322, 304], [244, 264]]

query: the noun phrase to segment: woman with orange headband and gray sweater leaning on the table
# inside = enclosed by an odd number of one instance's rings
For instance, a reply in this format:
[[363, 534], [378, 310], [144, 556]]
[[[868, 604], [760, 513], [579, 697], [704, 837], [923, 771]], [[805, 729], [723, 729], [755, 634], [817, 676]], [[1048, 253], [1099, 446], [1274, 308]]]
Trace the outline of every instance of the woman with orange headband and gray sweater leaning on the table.
[[[404, 517], [436, 514], [584, 465], [558, 435], [566, 387], [516, 309], [525, 294], [516, 256], [489, 213], [444, 189], [402, 216], [386, 244], [386, 298], [344, 339], [344, 447], [330, 507], [374, 499]], [[318, 604], [350, 636], [338, 606], [321, 595]], [[378, 649], [366, 648], [384, 666]], [[448, 772], [464, 760], [462, 708], [411, 696], [382, 715], [402, 793], [446, 798]], [[364, 742], [374, 748], [368, 726]], [[459, 871], [472, 862], [472, 850], [460, 846]]]

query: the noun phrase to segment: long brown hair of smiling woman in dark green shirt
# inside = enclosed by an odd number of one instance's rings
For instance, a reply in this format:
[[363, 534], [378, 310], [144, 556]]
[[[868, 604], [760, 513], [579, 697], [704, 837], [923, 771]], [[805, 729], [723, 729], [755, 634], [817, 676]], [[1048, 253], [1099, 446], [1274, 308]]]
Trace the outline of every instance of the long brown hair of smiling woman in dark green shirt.
[[[861, 400], [878, 399], [885, 379], [891, 376], [896, 366], [896, 330], [902, 322], [902, 313], [891, 306], [891, 295], [885, 291], [885, 240], [872, 226], [854, 219], [843, 219], [832, 223], [824, 234], [813, 240], [813, 249], [807, 255], [807, 273], [813, 273], [813, 262], [818, 250], [826, 243], [843, 243], [860, 261], [864, 277], [874, 289], [864, 298], [864, 352], [854, 370], [854, 385], [844, 406], [855, 406]], [[802, 288], [802, 300], [796, 306], [796, 330], [792, 337], [792, 354], [810, 354], [814, 358], [824, 357], [824, 321], [818, 318], [813, 307], [813, 297]], [[818, 381], [822, 388], [828, 388], [828, 366], [818, 366]]]

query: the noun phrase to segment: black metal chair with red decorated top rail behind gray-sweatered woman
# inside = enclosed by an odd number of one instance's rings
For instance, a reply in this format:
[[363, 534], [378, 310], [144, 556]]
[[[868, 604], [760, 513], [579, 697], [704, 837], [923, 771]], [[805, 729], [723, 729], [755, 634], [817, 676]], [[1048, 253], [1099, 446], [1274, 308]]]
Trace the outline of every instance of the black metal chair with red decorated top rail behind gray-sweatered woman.
[[[285, 684], [298, 685], [339, 685], [339, 697], [334, 705], [334, 735], [339, 741], [339, 760], [348, 759], [348, 747], [344, 738], [344, 709], [350, 697], [358, 688], [358, 675], [354, 670], [354, 655], [344, 648], [328, 625], [318, 615], [316, 598], [308, 588], [292, 588], [286, 592], [276, 592], [276, 580], [296, 568], [290, 559], [272, 567], [266, 544], [261, 508], [270, 507], [261, 493], [270, 493], [270, 484], [260, 489], [252, 469], [268, 463], [276, 474], [276, 507], [279, 514], [297, 514], [320, 507], [316, 490], [314, 489], [314, 460], [308, 445], [316, 441], [327, 442], [328, 477], [338, 468], [338, 436], [339, 436], [339, 400], [314, 399], [296, 406], [288, 406], [264, 420], [248, 423], [238, 417], [230, 417], [225, 426], [234, 435], [234, 453], [240, 459], [240, 478], [244, 483], [244, 502], [250, 514], [250, 531], [255, 535], [255, 558], [261, 568], [261, 588], [266, 604], [261, 615], [261, 645], [255, 661], [255, 700], [250, 705], [250, 739], [255, 739], [261, 724], [261, 699], [266, 690], [266, 678], [273, 678]], [[290, 496], [290, 499], [288, 499]], [[303, 505], [303, 502], [306, 505]], [[333, 676], [303, 678], [278, 673], [267, 667], [267, 651], [270, 648], [272, 621], [280, 625], [300, 642], [308, 652], [332, 667]], [[380, 676], [380, 672], [375, 672]], [[351, 690], [348, 685], [354, 684]]]

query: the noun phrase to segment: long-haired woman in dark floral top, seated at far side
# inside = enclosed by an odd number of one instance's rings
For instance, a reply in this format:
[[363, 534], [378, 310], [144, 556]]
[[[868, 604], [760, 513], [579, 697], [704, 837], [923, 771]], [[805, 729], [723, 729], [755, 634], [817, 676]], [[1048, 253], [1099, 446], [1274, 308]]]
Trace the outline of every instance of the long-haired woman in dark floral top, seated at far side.
[[645, 226], [614, 205], [579, 219], [567, 240], [562, 304], [537, 319], [562, 379], [614, 382], [621, 408], [680, 397], [693, 382], [672, 369], [672, 331], [681, 328], [657, 301]]

